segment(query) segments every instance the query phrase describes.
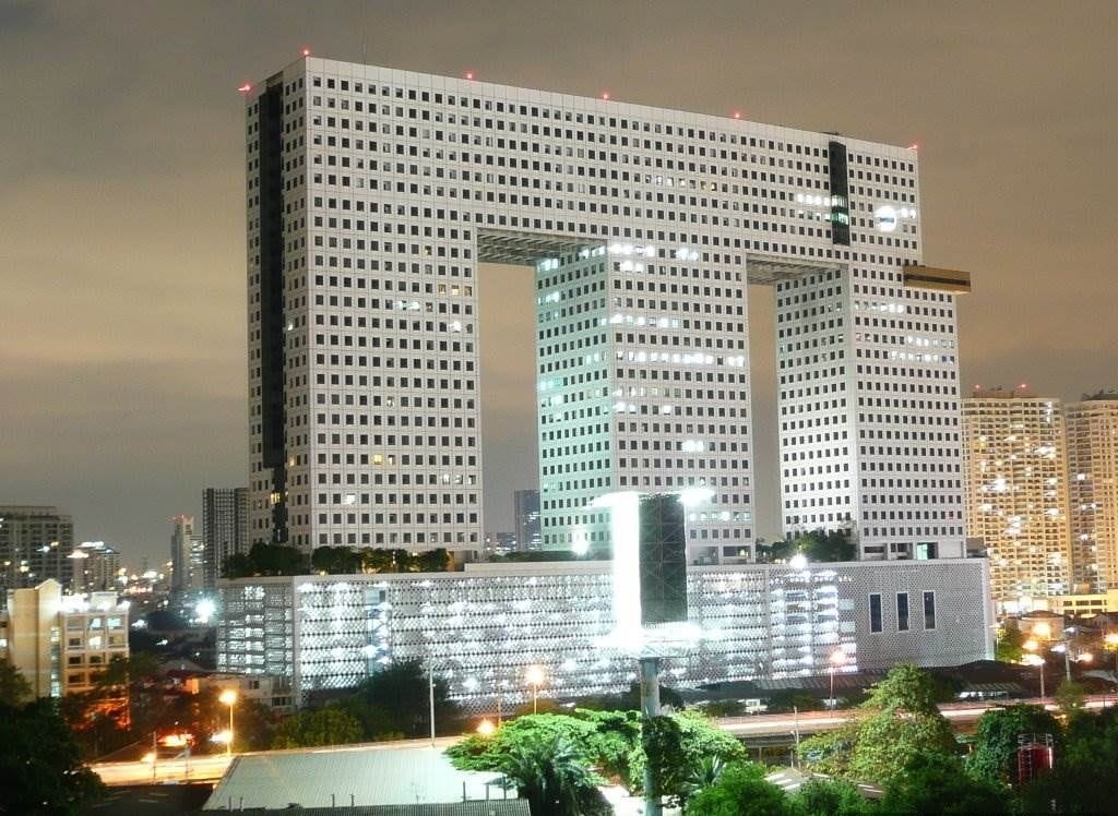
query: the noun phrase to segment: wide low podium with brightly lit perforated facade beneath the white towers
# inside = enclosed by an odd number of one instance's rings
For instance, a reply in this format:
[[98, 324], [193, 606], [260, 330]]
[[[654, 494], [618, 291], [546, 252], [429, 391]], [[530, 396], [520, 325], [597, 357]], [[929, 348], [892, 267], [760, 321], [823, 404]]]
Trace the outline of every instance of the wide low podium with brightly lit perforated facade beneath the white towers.
[[[697, 685], [823, 675], [899, 662], [957, 665], [992, 656], [983, 559], [692, 567], [688, 616], [703, 633], [665, 661]], [[356, 685], [415, 658], [474, 710], [543, 691], [625, 690], [636, 666], [610, 644], [613, 575], [601, 561], [467, 564], [463, 572], [304, 576], [219, 581], [218, 671], [285, 677], [309, 692]]]

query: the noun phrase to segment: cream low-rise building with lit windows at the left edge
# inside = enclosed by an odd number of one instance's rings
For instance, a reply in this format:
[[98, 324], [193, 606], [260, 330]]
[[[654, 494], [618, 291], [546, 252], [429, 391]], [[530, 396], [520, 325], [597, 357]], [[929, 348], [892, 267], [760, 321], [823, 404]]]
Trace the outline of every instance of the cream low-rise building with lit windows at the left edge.
[[129, 604], [116, 592], [63, 595], [54, 579], [9, 590], [0, 655], [37, 696], [88, 691], [113, 657], [129, 656]]

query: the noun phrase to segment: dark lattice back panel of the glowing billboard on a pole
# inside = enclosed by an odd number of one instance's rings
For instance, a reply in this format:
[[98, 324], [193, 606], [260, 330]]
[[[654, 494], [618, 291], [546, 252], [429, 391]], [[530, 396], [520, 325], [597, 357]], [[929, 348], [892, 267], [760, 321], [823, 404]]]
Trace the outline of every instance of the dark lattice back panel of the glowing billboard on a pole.
[[678, 495], [641, 496], [641, 623], [688, 619], [688, 554], [683, 502]]

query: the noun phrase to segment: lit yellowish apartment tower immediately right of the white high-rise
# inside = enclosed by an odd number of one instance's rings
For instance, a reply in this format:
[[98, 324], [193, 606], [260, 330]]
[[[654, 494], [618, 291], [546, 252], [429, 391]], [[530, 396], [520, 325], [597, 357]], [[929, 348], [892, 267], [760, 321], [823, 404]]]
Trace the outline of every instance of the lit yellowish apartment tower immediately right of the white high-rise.
[[1067, 439], [1060, 400], [1023, 389], [963, 401], [967, 524], [983, 539], [1001, 611], [1068, 595], [1071, 552]]

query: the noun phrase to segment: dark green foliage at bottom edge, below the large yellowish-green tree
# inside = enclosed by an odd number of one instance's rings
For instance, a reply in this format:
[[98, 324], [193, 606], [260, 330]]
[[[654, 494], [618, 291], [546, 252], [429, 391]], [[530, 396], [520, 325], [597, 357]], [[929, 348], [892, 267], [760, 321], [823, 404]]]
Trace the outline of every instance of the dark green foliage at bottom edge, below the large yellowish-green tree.
[[917, 753], [891, 777], [881, 809], [887, 814], [999, 816], [1010, 813], [1010, 797], [1005, 788], [965, 774], [957, 757]]

